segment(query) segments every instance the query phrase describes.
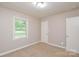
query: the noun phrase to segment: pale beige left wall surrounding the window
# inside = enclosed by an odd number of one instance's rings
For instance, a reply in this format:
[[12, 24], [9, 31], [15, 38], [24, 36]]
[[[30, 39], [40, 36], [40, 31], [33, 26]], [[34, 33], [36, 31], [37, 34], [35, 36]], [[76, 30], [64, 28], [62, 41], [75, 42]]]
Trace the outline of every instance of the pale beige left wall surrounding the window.
[[[13, 40], [13, 16], [29, 21], [28, 39]], [[23, 13], [0, 7], [0, 53], [40, 40], [40, 20]]]

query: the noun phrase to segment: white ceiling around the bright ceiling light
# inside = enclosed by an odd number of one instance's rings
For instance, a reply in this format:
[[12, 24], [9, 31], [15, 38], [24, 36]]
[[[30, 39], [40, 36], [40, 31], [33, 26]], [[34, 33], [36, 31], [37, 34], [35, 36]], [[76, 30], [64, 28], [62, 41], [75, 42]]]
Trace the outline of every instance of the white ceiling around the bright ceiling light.
[[28, 15], [42, 18], [79, 7], [78, 2], [46, 2], [45, 8], [36, 8], [31, 2], [0, 2], [0, 6], [8, 7]]

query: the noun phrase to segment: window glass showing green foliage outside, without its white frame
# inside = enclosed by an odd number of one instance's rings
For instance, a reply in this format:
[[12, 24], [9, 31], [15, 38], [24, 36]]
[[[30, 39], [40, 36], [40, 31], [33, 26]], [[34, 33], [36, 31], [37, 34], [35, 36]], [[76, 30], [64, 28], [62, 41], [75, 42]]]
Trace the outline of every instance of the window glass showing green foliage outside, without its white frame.
[[26, 37], [26, 21], [16, 18], [15, 20], [15, 38]]

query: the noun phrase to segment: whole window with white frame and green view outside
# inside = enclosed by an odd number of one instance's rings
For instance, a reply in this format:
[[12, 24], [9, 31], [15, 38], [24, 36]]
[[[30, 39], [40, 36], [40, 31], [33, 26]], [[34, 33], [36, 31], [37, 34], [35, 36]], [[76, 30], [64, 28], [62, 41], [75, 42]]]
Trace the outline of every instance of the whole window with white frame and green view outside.
[[15, 17], [15, 25], [14, 25], [14, 39], [25, 38], [27, 37], [27, 20], [23, 18]]

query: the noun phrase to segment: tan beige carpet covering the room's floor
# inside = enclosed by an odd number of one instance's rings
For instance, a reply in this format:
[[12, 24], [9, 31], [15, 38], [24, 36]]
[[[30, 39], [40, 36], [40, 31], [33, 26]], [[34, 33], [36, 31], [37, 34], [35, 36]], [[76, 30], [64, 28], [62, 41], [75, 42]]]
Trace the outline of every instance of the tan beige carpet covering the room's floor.
[[2, 57], [78, 57], [79, 54], [65, 49], [38, 43]]

